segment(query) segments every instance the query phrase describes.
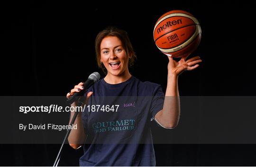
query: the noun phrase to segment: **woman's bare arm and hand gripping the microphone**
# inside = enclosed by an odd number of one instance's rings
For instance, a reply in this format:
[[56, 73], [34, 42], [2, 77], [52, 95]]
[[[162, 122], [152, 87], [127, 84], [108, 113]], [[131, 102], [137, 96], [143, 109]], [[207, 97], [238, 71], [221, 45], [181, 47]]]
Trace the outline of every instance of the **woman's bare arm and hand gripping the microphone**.
[[[78, 85], [76, 85], [71, 91], [70, 93], [67, 94], [67, 98], [70, 98], [71, 96], [73, 96], [73, 94], [75, 92], [80, 92], [82, 89], [84, 89], [82, 87], [83, 83], [80, 82]], [[92, 92], [88, 92], [87, 93], [87, 97], [86, 97], [86, 100], [85, 100], [85, 104], [87, 104], [88, 102], [88, 99], [89, 97], [91, 97], [92, 95]], [[77, 103], [76, 102], [73, 102], [71, 106], [77, 106]], [[70, 120], [69, 120], [69, 124], [71, 123], [72, 121], [72, 118], [73, 118], [73, 115], [75, 114], [75, 112], [70, 112]], [[85, 132], [84, 132], [84, 129], [83, 129], [83, 123], [82, 123], [82, 112], [79, 112], [76, 119], [75, 119], [75, 122], [74, 122], [74, 125], [77, 125], [77, 129], [72, 129], [69, 136], [68, 136], [68, 142], [69, 142], [69, 145], [73, 148], [73, 149], [78, 149], [80, 146], [82, 146], [82, 144], [84, 143], [84, 140], [85, 140]]]

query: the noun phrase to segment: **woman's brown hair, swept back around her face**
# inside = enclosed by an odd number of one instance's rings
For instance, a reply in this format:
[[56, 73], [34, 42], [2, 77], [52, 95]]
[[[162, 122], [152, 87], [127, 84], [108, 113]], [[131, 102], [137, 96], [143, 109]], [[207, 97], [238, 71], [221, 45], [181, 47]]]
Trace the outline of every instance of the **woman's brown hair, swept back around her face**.
[[110, 26], [101, 31], [95, 39], [95, 51], [98, 66], [106, 73], [106, 68], [101, 63], [101, 41], [107, 36], [116, 36], [122, 42], [127, 56], [129, 56], [129, 66], [131, 67], [136, 59], [136, 54], [134, 53], [132, 44], [129, 40], [128, 33], [117, 27]]

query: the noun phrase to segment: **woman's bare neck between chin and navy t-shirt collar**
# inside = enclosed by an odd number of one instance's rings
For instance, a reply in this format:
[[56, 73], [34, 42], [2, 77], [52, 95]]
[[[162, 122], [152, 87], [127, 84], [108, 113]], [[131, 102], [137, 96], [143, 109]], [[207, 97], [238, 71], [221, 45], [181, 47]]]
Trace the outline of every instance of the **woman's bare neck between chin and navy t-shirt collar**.
[[130, 77], [131, 77], [131, 74], [129, 73], [128, 70], [126, 70], [125, 72], [123, 72], [121, 75], [118, 75], [118, 76], [108, 73], [104, 78], [104, 80], [109, 84], [119, 84], [127, 81]]

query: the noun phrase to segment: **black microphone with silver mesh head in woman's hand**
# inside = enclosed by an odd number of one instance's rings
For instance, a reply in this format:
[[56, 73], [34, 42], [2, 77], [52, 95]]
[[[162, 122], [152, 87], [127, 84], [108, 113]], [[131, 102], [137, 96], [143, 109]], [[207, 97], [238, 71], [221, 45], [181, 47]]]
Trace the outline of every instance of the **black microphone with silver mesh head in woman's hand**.
[[72, 104], [74, 101], [77, 101], [79, 96], [83, 96], [84, 92], [91, 87], [94, 83], [96, 83], [101, 78], [101, 75], [98, 72], [93, 72], [88, 79], [83, 83], [83, 88], [80, 92], [75, 92], [72, 97], [67, 99], [69, 104]]

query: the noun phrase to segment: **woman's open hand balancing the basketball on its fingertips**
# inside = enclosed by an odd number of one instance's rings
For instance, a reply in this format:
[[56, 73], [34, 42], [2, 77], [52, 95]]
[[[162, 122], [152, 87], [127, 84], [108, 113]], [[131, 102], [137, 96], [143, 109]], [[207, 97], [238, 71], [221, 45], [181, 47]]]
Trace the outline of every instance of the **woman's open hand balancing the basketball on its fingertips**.
[[179, 62], [174, 61], [173, 57], [167, 56], [169, 59], [168, 63], [168, 74], [178, 76], [184, 70], [194, 70], [199, 66], [199, 62], [202, 62], [199, 56], [192, 57], [189, 60], [186, 60], [188, 57], [184, 56]]

